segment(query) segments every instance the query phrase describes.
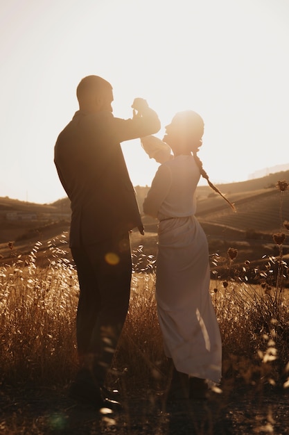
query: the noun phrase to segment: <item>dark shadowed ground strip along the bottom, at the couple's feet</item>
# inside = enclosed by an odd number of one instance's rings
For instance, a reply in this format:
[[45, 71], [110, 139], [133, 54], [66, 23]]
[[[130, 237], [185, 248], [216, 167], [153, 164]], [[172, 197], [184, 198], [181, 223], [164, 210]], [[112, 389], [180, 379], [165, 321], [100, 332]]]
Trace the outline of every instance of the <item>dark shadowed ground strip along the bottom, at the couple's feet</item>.
[[258, 395], [238, 388], [209, 400], [166, 405], [161, 395], [124, 397], [123, 410], [107, 413], [69, 399], [67, 387], [1, 386], [0, 433], [65, 435], [289, 434], [288, 395]]

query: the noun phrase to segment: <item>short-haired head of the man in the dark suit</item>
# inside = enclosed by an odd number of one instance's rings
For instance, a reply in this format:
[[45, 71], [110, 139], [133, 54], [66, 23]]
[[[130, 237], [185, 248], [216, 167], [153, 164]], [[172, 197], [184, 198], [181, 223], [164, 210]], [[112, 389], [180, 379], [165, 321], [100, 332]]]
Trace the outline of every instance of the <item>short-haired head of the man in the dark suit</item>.
[[99, 76], [87, 76], [80, 81], [76, 96], [80, 110], [86, 112], [112, 112], [112, 85]]

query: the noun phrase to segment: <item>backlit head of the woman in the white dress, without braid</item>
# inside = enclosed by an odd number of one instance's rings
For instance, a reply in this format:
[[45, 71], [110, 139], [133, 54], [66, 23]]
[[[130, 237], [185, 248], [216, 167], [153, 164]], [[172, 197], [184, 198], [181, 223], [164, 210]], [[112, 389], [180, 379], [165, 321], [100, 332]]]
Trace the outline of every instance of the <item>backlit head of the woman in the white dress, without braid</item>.
[[172, 122], [166, 126], [164, 142], [170, 145], [173, 153], [190, 154], [198, 151], [202, 145], [204, 121], [193, 110], [178, 112]]

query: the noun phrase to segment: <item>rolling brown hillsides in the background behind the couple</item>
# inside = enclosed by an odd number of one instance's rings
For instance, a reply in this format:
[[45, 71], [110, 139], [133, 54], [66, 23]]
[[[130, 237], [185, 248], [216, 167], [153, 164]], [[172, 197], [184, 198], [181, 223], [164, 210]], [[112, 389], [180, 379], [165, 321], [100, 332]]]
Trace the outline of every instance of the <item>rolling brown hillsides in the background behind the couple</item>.
[[[239, 249], [238, 261], [253, 261], [265, 255], [277, 255], [278, 249], [272, 234], [283, 229], [289, 220], [289, 190], [281, 194], [278, 181], [289, 180], [289, 171], [270, 174], [261, 179], [219, 185], [218, 188], [234, 202], [234, 213], [227, 202], [209, 186], [198, 186], [197, 217], [209, 240], [211, 252], [225, 255], [227, 247]], [[136, 187], [140, 209], [148, 188]], [[282, 215], [281, 211], [282, 195]], [[56, 245], [68, 236], [70, 222], [69, 199], [59, 199], [53, 204], [31, 204], [15, 199], [0, 198], [0, 258], [1, 263], [11, 256], [28, 254], [36, 242], [44, 250], [47, 240]], [[132, 233], [132, 247], [143, 246], [143, 254], [155, 254], [157, 249], [157, 220], [143, 217], [146, 235]], [[287, 231], [288, 233], [288, 231]], [[286, 235], [287, 235], [286, 233]], [[288, 236], [289, 238], [289, 236]], [[13, 242], [13, 249], [8, 247]], [[46, 249], [46, 248], [45, 248]], [[284, 254], [287, 254], [284, 244]]]

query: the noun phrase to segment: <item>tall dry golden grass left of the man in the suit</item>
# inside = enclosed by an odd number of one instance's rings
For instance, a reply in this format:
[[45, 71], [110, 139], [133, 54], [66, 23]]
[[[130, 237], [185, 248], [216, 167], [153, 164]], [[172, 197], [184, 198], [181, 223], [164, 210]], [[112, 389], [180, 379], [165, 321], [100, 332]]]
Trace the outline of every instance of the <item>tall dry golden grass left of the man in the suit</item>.
[[48, 268], [36, 265], [37, 243], [23, 262], [0, 272], [0, 364], [8, 381], [67, 379], [76, 364], [78, 284], [64, 251], [49, 245]]

